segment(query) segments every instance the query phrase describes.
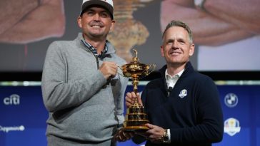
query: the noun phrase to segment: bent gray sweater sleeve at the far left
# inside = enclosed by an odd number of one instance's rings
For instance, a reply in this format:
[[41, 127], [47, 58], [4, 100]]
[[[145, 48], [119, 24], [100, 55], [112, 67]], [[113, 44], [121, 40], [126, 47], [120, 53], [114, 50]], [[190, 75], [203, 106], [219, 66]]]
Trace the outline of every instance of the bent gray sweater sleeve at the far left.
[[[68, 83], [68, 68], [65, 47], [51, 43], [46, 53], [41, 78], [44, 105], [49, 112], [81, 105], [89, 100], [106, 83], [99, 70], [85, 78]], [[99, 81], [96, 81], [99, 80]]]

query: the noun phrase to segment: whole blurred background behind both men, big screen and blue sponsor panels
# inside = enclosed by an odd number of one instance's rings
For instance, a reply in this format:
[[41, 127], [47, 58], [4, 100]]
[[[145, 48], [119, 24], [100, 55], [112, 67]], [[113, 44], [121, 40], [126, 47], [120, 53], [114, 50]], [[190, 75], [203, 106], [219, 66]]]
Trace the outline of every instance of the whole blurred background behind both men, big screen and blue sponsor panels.
[[[46, 145], [44, 58], [51, 42], [73, 40], [81, 31], [81, 2], [0, 0], [0, 145]], [[156, 64], [139, 83], [141, 92], [165, 64], [160, 46], [166, 24], [184, 21], [196, 44], [191, 63], [215, 81], [221, 95], [225, 133], [214, 145], [260, 146], [259, 6], [259, 0], [206, 0], [204, 7], [191, 0], [114, 0], [116, 26], [108, 39], [126, 61], [135, 48], [141, 63]]]

